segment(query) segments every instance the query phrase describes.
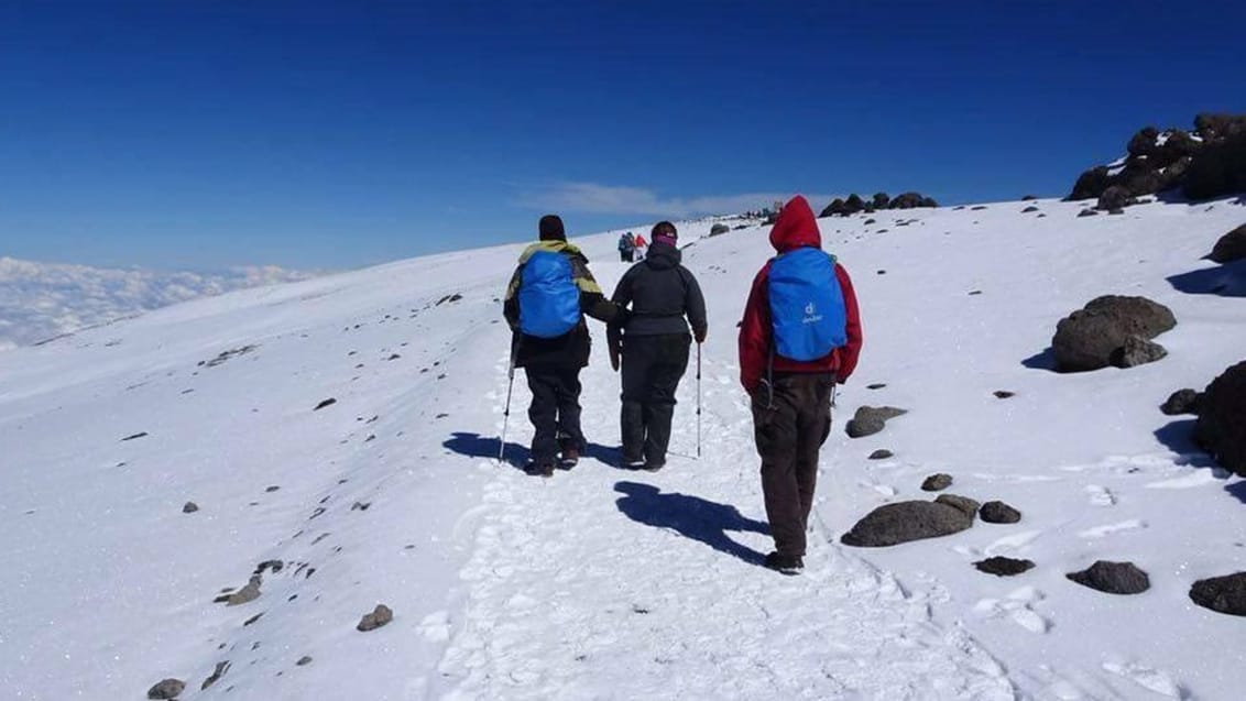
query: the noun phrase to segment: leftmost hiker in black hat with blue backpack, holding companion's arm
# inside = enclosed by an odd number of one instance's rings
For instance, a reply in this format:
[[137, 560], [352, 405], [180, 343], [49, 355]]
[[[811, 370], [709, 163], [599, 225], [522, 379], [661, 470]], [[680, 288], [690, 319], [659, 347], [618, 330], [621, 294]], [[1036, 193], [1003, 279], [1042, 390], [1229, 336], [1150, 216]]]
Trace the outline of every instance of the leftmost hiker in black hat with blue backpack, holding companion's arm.
[[525, 369], [536, 433], [528, 474], [549, 477], [556, 463], [571, 469], [584, 451], [579, 427], [579, 370], [588, 365], [591, 339], [584, 315], [601, 321], [627, 318], [606, 299], [588, 271], [588, 259], [567, 243], [562, 219], [541, 218], [541, 240], [520, 256], [506, 288], [502, 313], [513, 331], [511, 357]]

